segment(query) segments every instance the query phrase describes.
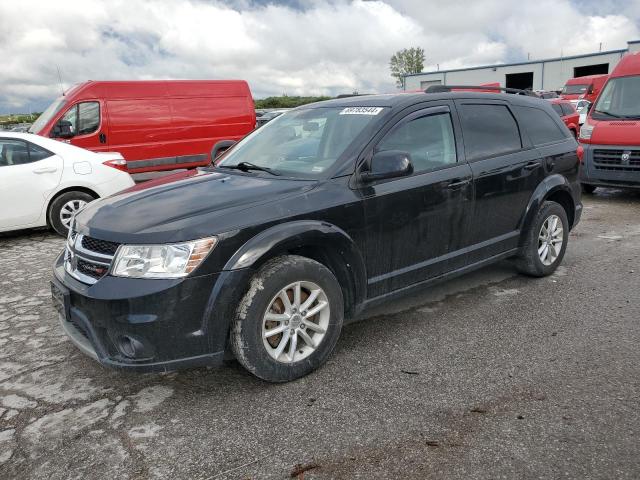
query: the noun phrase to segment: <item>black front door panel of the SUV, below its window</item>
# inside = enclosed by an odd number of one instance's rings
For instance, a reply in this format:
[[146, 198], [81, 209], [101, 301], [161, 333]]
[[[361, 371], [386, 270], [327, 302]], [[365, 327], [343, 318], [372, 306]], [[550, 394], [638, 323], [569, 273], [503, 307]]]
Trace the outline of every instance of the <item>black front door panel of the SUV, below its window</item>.
[[[459, 186], [451, 188], [452, 183]], [[370, 296], [464, 265], [458, 250], [471, 213], [468, 164], [370, 187], [365, 199]]]

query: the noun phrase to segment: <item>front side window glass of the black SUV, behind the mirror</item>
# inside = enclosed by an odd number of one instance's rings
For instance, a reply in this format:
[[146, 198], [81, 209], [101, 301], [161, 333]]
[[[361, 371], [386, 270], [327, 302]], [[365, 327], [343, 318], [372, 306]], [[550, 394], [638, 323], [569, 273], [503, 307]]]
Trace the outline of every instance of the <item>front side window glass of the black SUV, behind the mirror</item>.
[[456, 163], [456, 143], [448, 113], [419, 117], [402, 124], [378, 144], [378, 151], [409, 152], [414, 171]]

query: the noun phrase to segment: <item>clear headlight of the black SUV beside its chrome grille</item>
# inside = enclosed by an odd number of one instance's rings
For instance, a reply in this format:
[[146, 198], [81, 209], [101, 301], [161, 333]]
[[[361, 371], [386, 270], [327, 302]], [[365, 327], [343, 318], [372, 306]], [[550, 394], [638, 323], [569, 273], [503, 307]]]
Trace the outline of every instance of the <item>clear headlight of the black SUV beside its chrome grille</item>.
[[129, 278], [185, 277], [202, 263], [216, 243], [216, 237], [209, 237], [174, 245], [121, 245], [111, 274]]

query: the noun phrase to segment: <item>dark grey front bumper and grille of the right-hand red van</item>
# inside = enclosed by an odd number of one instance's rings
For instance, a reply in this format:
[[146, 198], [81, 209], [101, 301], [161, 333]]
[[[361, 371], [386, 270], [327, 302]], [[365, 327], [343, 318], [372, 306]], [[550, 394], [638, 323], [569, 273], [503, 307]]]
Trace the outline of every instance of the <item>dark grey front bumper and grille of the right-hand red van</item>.
[[[581, 144], [584, 160], [580, 183], [616, 188], [640, 188], [640, 145]], [[622, 159], [623, 154], [630, 158]]]

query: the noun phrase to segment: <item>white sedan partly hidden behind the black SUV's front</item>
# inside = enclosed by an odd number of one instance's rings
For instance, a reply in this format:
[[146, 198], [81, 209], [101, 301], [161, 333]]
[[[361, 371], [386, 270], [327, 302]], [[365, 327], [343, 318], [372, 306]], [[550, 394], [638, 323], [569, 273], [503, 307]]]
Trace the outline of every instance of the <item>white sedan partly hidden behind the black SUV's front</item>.
[[124, 169], [119, 153], [0, 132], [0, 232], [48, 225], [66, 235], [87, 203], [134, 185]]

